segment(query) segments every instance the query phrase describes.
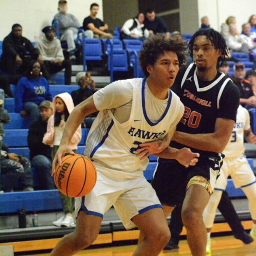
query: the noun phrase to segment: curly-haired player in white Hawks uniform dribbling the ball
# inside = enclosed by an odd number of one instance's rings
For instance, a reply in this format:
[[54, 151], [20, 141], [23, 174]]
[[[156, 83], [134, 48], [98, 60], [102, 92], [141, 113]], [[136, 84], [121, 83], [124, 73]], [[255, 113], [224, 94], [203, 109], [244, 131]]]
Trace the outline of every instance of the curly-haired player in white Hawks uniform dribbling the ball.
[[[138, 155], [136, 150], [140, 143], [155, 140], [161, 150], [169, 145], [184, 112], [180, 99], [169, 89], [184, 63], [184, 49], [184, 43], [163, 36], [148, 40], [140, 52], [147, 79], [113, 82], [69, 115], [53, 174], [61, 156], [72, 154], [68, 145], [79, 124], [87, 114], [99, 110], [86, 142], [86, 155], [94, 161], [98, 178], [91, 193], [76, 198], [75, 231], [65, 236], [50, 255], [69, 256], [88, 247], [99, 234], [103, 214], [112, 205], [127, 229], [137, 226], [144, 235], [134, 255], [158, 255], [169, 241], [162, 206], [143, 176], [149, 152]], [[184, 166], [197, 162], [198, 154], [188, 148], [170, 150], [170, 157]]]

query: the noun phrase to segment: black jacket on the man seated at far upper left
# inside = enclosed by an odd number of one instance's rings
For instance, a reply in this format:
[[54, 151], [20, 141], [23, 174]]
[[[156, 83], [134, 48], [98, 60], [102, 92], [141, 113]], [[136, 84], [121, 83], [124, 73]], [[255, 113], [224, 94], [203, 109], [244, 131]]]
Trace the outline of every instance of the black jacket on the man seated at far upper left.
[[39, 50], [32, 45], [31, 41], [23, 36], [21, 40], [18, 41], [14, 38], [12, 32], [4, 38], [2, 50], [0, 67], [9, 74], [13, 74], [17, 55], [19, 55], [22, 60], [28, 52], [32, 59], [37, 59], [39, 55]]

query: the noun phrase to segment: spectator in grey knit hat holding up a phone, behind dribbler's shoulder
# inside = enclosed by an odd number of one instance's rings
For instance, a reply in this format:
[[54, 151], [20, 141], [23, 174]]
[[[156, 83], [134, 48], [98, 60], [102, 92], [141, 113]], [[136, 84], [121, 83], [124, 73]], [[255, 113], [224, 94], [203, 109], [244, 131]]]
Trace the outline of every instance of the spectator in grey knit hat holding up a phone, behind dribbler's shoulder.
[[[80, 86], [80, 89], [74, 90], [71, 93], [74, 105], [76, 106], [96, 92], [96, 85], [95, 82], [92, 80], [90, 73], [79, 72], [76, 74], [75, 79], [76, 83]], [[96, 116], [97, 113], [87, 115], [84, 122], [82, 123], [82, 127], [90, 128]]]

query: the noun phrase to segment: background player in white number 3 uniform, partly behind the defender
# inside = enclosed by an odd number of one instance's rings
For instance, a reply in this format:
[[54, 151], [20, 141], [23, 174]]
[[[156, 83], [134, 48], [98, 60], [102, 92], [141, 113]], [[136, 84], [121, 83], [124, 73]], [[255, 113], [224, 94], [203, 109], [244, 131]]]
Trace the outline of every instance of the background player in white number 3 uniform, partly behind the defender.
[[203, 220], [207, 228], [207, 253], [211, 252], [211, 228], [213, 227], [216, 208], [220, 202], [222, 191], [227, 187], [229, 175], [233, 179], [235, 187], [241, 188], [249, 200], [249, 209], [254, 223], [250, 235], [256, 240], [256, 178], [244, 155], [244, 137], [247, 142], [256, 144], [256, 136], [252, 133], [250, 127], [248, 110], [240, 105], [237, 109], [233, 132], [223, 151], [225, 158], [220, 177], [217, 179], [214, 193], [211, 195], [203, 213]]

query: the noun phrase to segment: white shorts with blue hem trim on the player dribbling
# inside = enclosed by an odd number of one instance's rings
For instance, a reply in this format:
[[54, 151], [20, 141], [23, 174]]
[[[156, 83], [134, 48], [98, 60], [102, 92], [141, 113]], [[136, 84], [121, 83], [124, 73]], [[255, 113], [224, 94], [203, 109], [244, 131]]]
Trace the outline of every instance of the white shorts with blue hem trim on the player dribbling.
[[103, 218], [114, 206], [126, 229], [136, 227], [132, 218], [153, 208], [162, 208], [155, 190], [143, 176], [143, 171], [127, 173], [95, 163], [97, 182], [92, 192], [75, 200], [75, 215], [86, 214]]

